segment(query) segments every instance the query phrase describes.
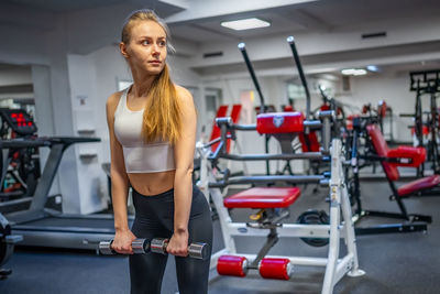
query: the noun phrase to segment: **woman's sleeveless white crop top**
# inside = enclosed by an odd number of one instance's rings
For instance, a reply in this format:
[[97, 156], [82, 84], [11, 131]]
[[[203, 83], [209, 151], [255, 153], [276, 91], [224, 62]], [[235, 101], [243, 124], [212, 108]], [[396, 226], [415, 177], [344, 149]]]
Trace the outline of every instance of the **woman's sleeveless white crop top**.
[[176, 170], [174, 148], [169, 142], [145, 143], [142, 138], [144, 110], [132, 111], [127, 106], [127, 88], [114, 111], [114, 135], [121, 143], [127, 173], [157, 173]]

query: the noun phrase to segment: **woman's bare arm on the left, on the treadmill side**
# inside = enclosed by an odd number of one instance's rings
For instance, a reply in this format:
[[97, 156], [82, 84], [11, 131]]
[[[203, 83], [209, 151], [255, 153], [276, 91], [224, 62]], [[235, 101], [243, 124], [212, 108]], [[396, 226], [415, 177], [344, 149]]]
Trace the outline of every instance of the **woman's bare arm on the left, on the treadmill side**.
[[118, 107], [119, 99], [120, 94], [113, 94], [106, 104], [107, 124], [109, 127], [110, 137], [110, 177], [116, 230], [113, 249], [120, 253], [132, 253], [131, 241], [134, 239], [134, 236], [129, 229], [127, 214], [129, 178], [125, 173], [122, 146], [114, 135], [114, 111]]

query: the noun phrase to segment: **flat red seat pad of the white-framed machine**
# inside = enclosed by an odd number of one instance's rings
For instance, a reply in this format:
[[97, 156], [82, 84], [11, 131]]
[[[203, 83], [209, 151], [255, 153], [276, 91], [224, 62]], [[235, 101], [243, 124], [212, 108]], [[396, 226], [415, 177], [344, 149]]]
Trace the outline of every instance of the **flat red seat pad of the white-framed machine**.
[[257, 187], [224, 198], [227, 208], [282, 208], [298, 199], [297, 187]]

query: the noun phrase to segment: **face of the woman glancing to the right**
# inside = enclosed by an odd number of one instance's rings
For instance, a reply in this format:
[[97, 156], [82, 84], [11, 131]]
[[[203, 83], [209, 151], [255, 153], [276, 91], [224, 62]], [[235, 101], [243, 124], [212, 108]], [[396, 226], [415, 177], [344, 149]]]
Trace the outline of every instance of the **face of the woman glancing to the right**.
[[165, 66], [166, 33], [154, 21], [139, 21], [131, 29], [130, 43], [121, 44], [121, 52], [132, 68], [158, 75]]

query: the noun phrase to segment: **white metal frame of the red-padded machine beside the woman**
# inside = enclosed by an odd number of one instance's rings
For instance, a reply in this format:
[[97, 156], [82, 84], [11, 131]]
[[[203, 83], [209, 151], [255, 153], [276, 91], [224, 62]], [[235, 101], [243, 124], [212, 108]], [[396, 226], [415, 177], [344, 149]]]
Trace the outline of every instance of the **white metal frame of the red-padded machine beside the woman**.
[[[341, 141], [333, 139], [331, 143], [331, 176], [329, 181], [330, 187], [330, 224], [329, 225], [298, 225], [298, 224], [279, 224], [276, 228], [280, 238], [329, 238], [329, 251], [327, 258], [316, 257], [275, 257], [266, 255], [266, 258], [288, 259], [290, 265], [311, 265], [324, 266], [324, 280], [321, 293], [332, 293], [334, 285], [345, 274], [349, 276], [360, 276], [364, 272], [359, 269], [356, 242], [354, 236], [354, 227], [352, 222], [351, 205], [346, 185], [344, 183], [342, 168], [342, 146]], [[201, 190], [211, 197], [213, 205], [218, 211], [224, 249], [216, 252], [211, 257], [211, 269], [218, 264], [221, 255], [237, 255], [245, 258], [252, 263], [256, 254], [240, 254], [237, 251], [234, 237], [266, 237], [267, 229], [250, 227], [245, 222], [232, 221], [228, 209], [223, 206], [223, 197], [220, 188], [216, 186], [216, 176], [210, 170], [208, 162], [208, 152], [199, 150], [202, 156], [201, 167], [207, 168], [202, 174], [207, 175], [206, 181], [200, 182]], [[286, 178], [289, 176], [286, 176]], [[290, 176], [293, 179], [295, 176]], [[342, 219], [341, 219], [342, 213]], [[346, 246], [346, 254], [340, 255], [340, 239], [344, 239]]]

